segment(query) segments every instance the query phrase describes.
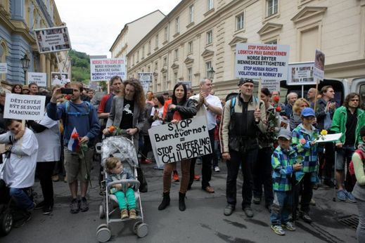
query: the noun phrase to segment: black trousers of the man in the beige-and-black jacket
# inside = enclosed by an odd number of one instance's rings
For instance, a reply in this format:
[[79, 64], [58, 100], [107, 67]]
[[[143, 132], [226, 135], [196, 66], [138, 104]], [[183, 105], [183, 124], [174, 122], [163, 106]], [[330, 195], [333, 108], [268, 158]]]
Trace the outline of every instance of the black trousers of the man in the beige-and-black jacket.
[[252, 169], [253, 164], [256, 162], [257, 150], [248, 150], [246, 152], [229, 151], [231, 160], [226, 162], [227, 165], [227, 179], [226, 179], [226, 198], [228, 204], [236, 206], [236, 193], [237, 193], [237, 175], [241, 165], [241, 171], [243, 173], [243, 185], [242, 185], [242, 207], [250, 207], [252, 200]]

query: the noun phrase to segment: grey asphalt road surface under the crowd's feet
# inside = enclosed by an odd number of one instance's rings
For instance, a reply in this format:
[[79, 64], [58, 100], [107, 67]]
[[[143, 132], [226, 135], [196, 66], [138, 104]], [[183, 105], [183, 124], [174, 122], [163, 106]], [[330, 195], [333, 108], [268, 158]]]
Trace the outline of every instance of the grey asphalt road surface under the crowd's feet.
[[[356, 242], [355, 230], [339, 221], [340, 218], [356, 215], [357, 206], [350, 202], [333, 202], [333, 189], [314, 190], [316, 206], [312, 206], [311, 225], [297, 221], [295, 232], [278, 236], [269, 228], [269, 213], [264, 205], [252, 205], [254, 218], [247, 218], [238, 206], [231, 216], [224, 216], [225, 164], [220, 164], [221, 172], [214, 173], [211, 185], [215, 193], [208, 194], [200, 189], [200, 182], [193, 184], [188, 191], [186, 211], [178, 208], [179, 183], [172, 182], [172, 202], [164, 211], [158, 211], [162, 199], [162, 171], [153, 169], [154, 165], [143, 165], [148, 180], [148, 192], [141, 194], [145, 223], [148, 235], [138, 238], [132, 232], [133, 222], [111, 223], [110, 242]], [[196, 171], [200, 169], [197, 165]], [[238, 192], [241, 192], [242, 177], [238, 179]], [[32, 219], [22, 228], [13, 228], [9, 235], [0, 237], [0, 242], [98, 242], [96, 228], [105, 223], [98, 217], [101, 196], [98, 195], [97, 170], [92, 176], [93, 188], [89, 190], [87, 212], [70, 214], [70, 192], [62, 181], [54, 183], [55, 206], [53, 213], [44, 216], [34, 211]], [[34, 189], [41, 197], [39, 183]]]

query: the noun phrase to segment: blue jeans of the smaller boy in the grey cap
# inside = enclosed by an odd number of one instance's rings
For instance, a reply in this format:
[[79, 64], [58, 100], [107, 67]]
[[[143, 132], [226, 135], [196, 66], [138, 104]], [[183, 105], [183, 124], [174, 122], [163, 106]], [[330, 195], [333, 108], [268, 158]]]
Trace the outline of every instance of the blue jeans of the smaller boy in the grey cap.
[[293, 192], [274, 191], [274, 202], [271, 206], [271, 225], [281, 225], [290, 221], [293, 206]]

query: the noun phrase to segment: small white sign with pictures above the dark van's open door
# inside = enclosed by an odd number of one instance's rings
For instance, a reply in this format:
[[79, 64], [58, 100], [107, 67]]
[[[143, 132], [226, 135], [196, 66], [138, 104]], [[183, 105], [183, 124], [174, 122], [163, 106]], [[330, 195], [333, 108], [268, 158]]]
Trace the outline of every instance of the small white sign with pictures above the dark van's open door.
[[316, 84], [313, 77], [314, 63], [289, 63], [288, 85]]

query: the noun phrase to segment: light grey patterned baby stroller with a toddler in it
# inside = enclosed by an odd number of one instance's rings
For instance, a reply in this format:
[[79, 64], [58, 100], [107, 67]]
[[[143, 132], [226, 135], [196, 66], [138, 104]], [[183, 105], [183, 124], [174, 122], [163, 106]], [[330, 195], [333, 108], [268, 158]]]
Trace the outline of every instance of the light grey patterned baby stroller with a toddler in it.
[[[104, 167], [103, 174], [104, 180], [107, 176], [105, 171], [105, 159], [108, 157], [117, 157], [122, 161], [124, 169], [130, 169], [134, 174], [134, 178], [137, 178], [136, 166], [138, 166], [138, 157], [136, 155], [136, 149], [131, 140], [122, 136], [112, 136], [105, 138], [102, 143], [96, 144], [96, 152], [101, 154], [101, 165]], [[136, 197], [136, 212], [137, 217], [133, 221], [133, 232], [138, 237], [145, 237], [148, 234], [148, 225], [143, 223], [143, 211], [141, 204], [141, 197], [139, 193], [139, 181], [138, 180], [115, 180], [108, 185], [105, 185], [105, 197], [99, 206], [99, 217], [105, 218], [106, 223], [98, 226], [96, 229], [96, 238], [99, 242], [107, 242], [111, 237], [111, 231], [109, 223], [132, 221], [132, 219], [121, 219], [119, 214], [119, 206], [117, 197], [110, 194], [110, 188], [112, 185], [122, 184], [122, 188], [127, 189], [128, 184], [134, 186], [134, 195]], [[115, 214], [113, 214], [115, 213]]]

